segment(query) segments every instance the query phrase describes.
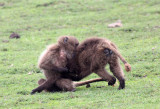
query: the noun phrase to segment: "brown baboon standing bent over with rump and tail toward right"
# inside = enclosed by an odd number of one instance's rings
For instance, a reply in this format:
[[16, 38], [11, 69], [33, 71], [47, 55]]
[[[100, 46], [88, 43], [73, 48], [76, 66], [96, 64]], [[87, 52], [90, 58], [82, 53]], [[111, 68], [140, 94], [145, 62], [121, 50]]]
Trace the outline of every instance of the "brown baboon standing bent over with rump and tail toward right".
[[[108, 85], [113, 85], [116, 82], [116, 77], [120, 82], [118, 89], [125, 88], [124, 73], [118, 58], [125, 64], [126, 71], [130, 71], [131, 66], [119, 53], [116, 45], [110, 40], [104, 38], [89, 38], [85, 40], [78, 47], [78, 64], [81, 71], [77, 76], [78, 80], [94, 72], [108, 81]], [[110, 71], [115, 77], [105, 70], [107, 64], [109, 64]]]

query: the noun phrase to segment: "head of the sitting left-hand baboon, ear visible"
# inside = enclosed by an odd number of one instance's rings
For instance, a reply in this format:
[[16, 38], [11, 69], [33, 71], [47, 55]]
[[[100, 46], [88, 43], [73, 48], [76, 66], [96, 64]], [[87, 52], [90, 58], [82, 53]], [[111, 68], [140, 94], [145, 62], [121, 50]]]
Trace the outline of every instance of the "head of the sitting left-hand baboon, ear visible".
[[70, 59], [75, 55], [79, 41], [73, 36], [61, 36], [58, 39], [58, 44], [65, 49], [67, 58]]

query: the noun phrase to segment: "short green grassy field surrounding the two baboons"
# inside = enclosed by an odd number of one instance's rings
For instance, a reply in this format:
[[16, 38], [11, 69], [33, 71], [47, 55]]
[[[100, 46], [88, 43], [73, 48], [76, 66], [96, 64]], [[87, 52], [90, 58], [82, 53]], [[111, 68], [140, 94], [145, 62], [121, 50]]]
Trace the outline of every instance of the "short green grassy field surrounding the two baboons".
[[[107, 27], [118, 19], [123, 27]], [[9, 39], [12, 32], [21, 38]], [[132, 65], [131, 73], [124, 72], [126, 88], [98, 82], [76, 92], [30, 95], [44, 77], [37, 68], [40, 53], [61, 35], [116, 43]], [[0, 0], [0, 108], [159, 109], [160, 1]]]

